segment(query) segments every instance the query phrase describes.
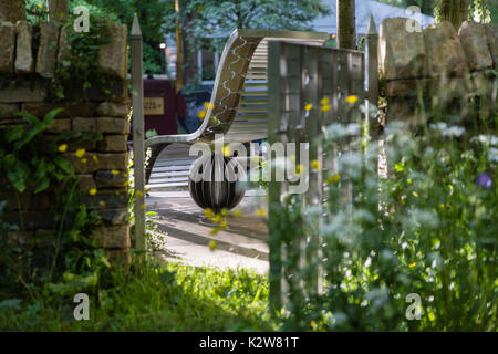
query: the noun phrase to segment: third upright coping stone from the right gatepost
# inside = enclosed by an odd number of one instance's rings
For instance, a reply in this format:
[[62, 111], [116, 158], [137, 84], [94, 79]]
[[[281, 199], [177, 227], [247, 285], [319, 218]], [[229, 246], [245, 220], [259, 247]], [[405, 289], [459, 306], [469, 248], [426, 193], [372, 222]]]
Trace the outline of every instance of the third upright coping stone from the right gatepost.
[[465, 21], [458, 31], [458, 35], [470, 71], [492, 67], [492, 58], [484, 24]]

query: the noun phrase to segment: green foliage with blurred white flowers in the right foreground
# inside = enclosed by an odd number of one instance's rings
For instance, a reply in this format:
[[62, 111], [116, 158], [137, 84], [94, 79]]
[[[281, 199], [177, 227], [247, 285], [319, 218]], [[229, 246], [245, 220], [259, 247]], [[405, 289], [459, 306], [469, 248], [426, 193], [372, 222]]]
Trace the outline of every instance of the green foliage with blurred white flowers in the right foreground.
[[[497, 331], [498, 112], [476, 92], [455, 114], [442, 104], [447, 96], [439, 91], [430, 110], [421, 101], [427, 125], [387, 125], [381, 178], [380, 152], [361, 149], [354, 124], [326, 128], [325, 150], [349, 152], [325, 179], [325, 205], [302, 209], [292, 196], [270, 220], [274, 242], [288, 246], [286, 330]], [[317, 235], [322, 259], [302, 267], [293, 242]], [[299, 280], [319, 264], [325, 285], [314, 296]], [[412, 293], [422, 299], [419, 321], [405, 316]]]

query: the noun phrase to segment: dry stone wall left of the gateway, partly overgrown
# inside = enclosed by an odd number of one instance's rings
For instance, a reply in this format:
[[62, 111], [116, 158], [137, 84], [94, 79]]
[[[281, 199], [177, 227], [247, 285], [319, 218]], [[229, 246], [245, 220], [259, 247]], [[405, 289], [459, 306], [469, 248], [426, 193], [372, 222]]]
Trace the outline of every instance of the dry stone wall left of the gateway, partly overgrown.
[[[68, 33], [61, 27], [42, 23], [33, 28], [28, 22], [0, 22], [0, 128], [23, 124], [22, 117], [17, 115], [21, 111], [42, 118], [62, 107], [45, 131], [44, 139], [51, 140], [68, 132], [100, 134], [102, 139], [68, 144], [68, 149], [61, 154], [74, 166], [83, 202], [102, 218], [96, 233], [101, 246], [112, 254], [126, 254], [131, 247], [126, 217], [129, 133], [126, 27], [108, 23], [110, 42], [100, 48], [97, 64], [98, 71], [113, 80], [107, 87], [85, 91], [84, 100], [80, 96], [80, 100], [61, 101], [52, 92], [56, 65], [71, 51]], [[76, 93], [82, 90], [77, 82], [74, 87]], [[79, 149], [84, 149], [84, 156], [76, 156]], [[7, 200], [6, 220], [19, 225], [22, 219], [24, 238], [42, 240], [44, 236], [54, 235], [54, 215], [51, 214], [54, 192], [25, 191], [18, 202], [12, 188], [0, 184], [0, 200]]]

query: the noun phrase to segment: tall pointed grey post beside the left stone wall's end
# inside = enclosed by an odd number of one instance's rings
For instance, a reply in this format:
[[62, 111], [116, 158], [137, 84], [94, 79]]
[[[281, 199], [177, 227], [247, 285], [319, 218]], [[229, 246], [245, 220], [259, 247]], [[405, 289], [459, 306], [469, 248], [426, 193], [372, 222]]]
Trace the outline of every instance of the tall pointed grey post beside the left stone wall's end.
[[132, 28], [133, 85], [133, 168], [135, 177], [135, 247], [146, 250], [145, 240], [145, 148], [144, 148], [144, 82], [143, 43], [138, 17]]

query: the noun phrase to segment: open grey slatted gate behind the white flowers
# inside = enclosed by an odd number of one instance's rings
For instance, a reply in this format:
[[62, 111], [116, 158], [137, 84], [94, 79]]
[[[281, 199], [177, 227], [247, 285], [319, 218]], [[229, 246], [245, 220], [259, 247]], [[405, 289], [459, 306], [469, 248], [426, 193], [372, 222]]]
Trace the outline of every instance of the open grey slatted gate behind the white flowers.
[[[324, 152], [319, 139], [324, 128], [332, 123], [369, 126], [371, 124], [365, 123], [375, 118], [369, 116], [369, 106], [376, 106], [378, 97], [376, 43], [372, 21], [365, 52], [288, 42], [269, 44], [269, 144], [308, 143], [305, 148], [309, 148], [309, 160], [312, 162], [310, 167], [304, 166], [309, 168], [309, 188], [298, 201], [303, 207], [322, 205], [323, 176], [336, 168], [339, 152]], [[366, 114], [351, 110], [356, 101], [364, 104]], [[297, 165], [299, 156], [298, 150]], [[282, 220], [283, 197], [291, 184], [274, 179], [270, 183], [269, 192], [270, 299], [273, 308], [280, 309], [295, 289], [302, 290], [304, 298], [322, 292], [322, 240], [313, 230], [307, 230], [307, 235], [303, 232], [292, 240], [282, 235], [286, 227], [282, 222], [289, 222]], [[351, 197], [351, 184], [344, 185], [344, 192]], [[293, 221], [297, 223], [291, 227], [299, 229], [299, 219]], [[320, 217], [317, 222], [321, 222]], [[299, 272], [289, 263], [292, 258], [299, 258]], [[310, 273], [305, 269], [313, 271]]]

